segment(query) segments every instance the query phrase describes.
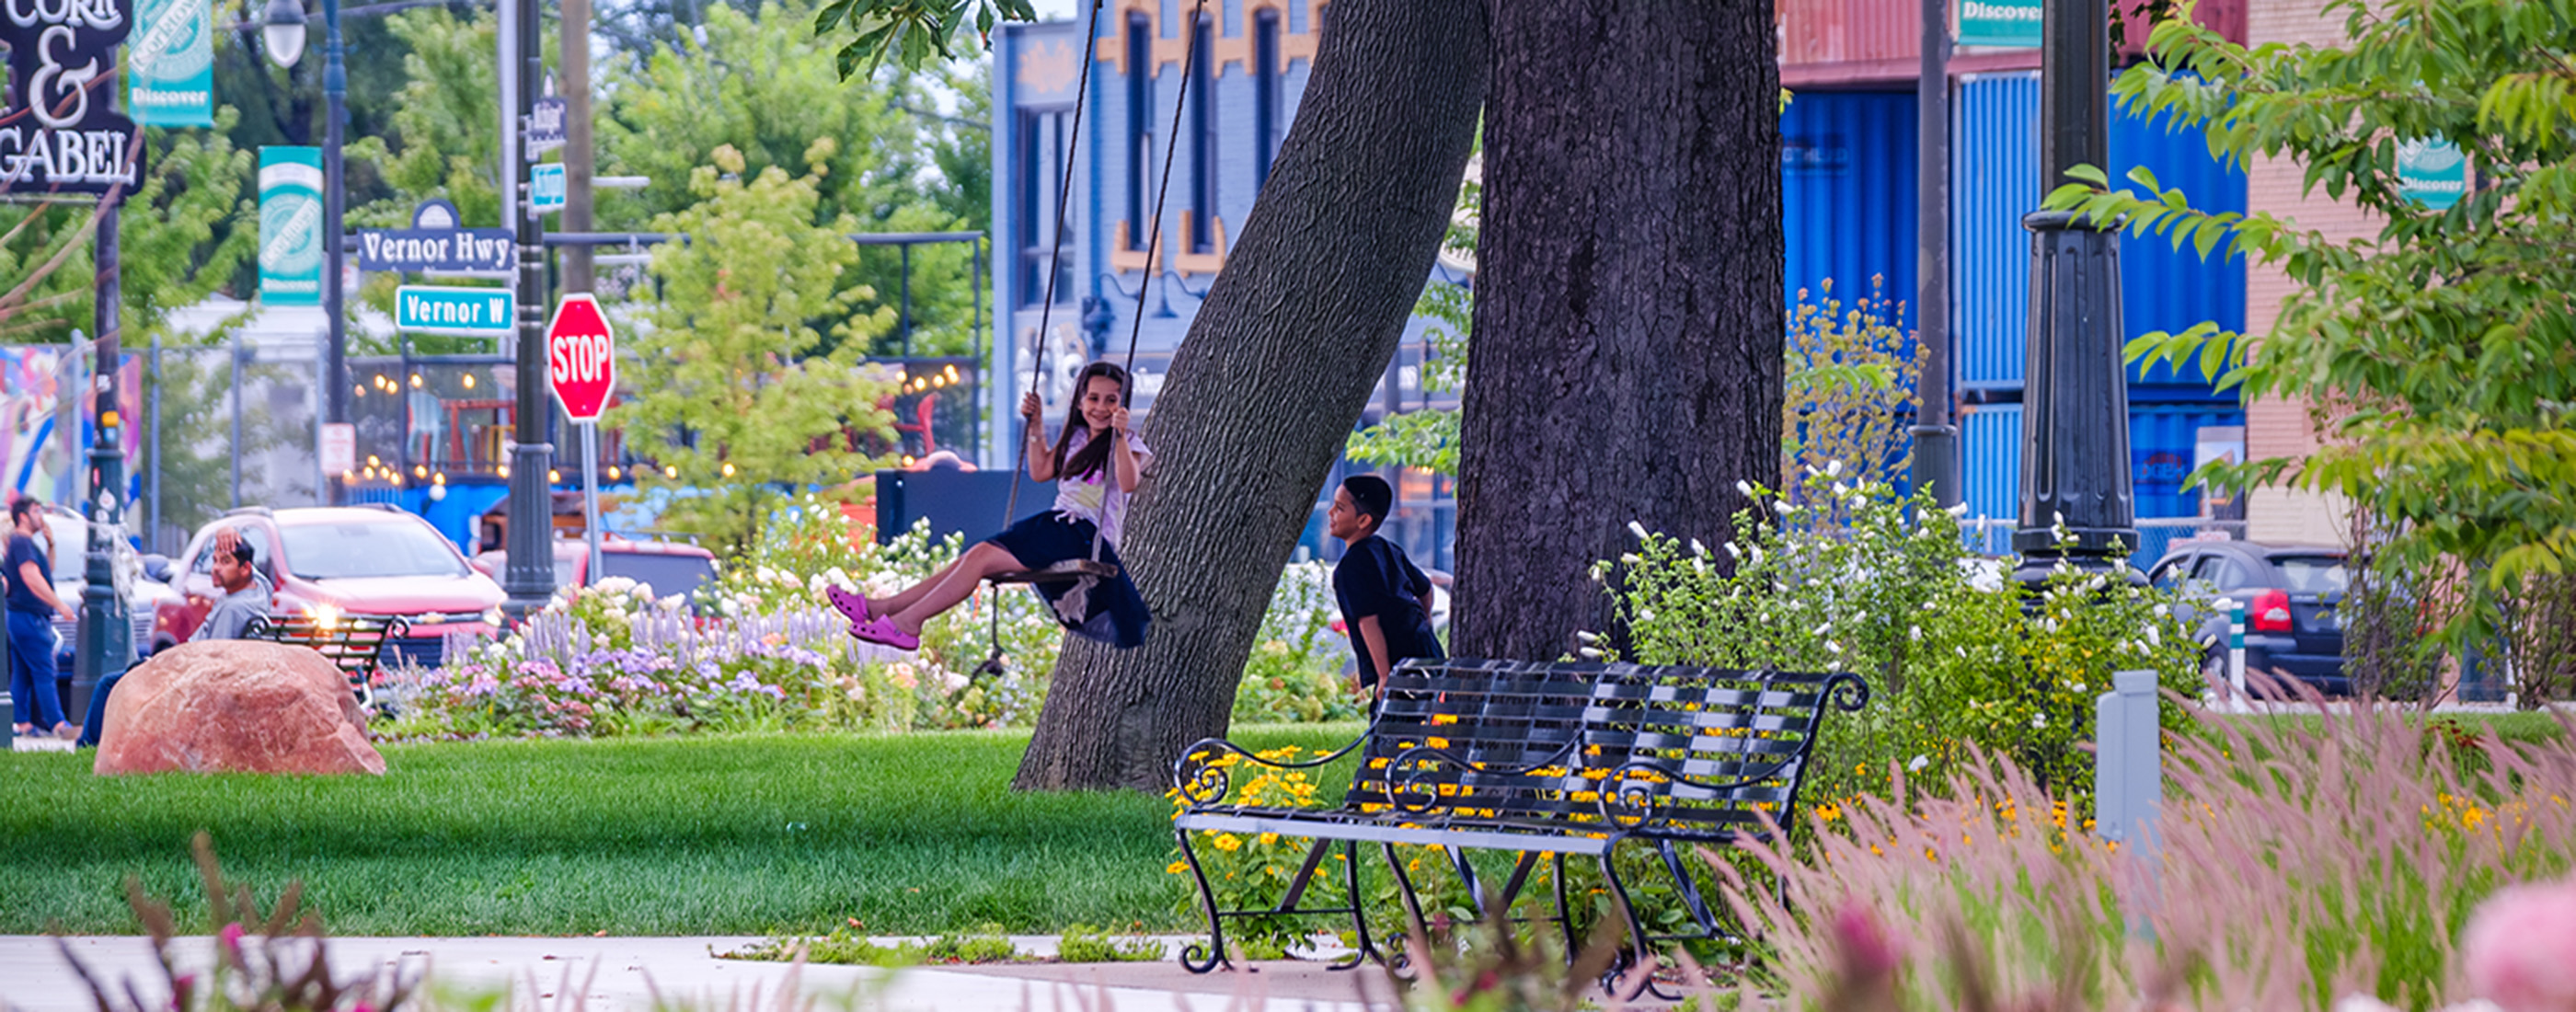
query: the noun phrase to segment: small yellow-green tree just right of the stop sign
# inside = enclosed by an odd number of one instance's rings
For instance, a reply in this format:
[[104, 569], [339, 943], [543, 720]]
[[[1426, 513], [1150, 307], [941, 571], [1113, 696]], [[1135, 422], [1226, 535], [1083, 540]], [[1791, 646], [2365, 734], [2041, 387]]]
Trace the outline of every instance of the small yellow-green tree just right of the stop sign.
[[[896, 376], [858, 355], [894, 314], [855, 312], [873, 294], [850, 278], [850, 216], [814, 211], [832, 149], [817, 139], [806, 175], [770, 165], [744, 183], [742, 152], [716, 147], [690, 173], [698, 203], [654, 219], [693, 239], [654, 247], [662, 301], [644, 309], [631, 394], [605, 422], [659, 469], [639, 469], [644, 484], [683, 492], [665, 523], [724, 554], [760, 543], [791, 489], [873, 469], [855, 445], [894, 435]], [[842, 337], [837, 350], [827, 337]]]

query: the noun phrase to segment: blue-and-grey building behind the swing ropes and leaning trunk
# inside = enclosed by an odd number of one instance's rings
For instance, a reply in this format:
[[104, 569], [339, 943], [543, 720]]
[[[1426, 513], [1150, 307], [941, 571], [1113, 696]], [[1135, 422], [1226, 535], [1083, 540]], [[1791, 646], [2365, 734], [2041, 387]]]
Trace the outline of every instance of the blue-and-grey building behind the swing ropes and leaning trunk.
[[[1020, 394], [1036, 389], [1054, 425], [1074, 397], [1074, 373], [1097, 358], [1126, 363], [1131, 342], [1133, 409], [1149, 415], [1200, 296], [1270, 180], [1329, 8], [1319, 0], [1211, 0], [1195, 26], [1193, 8], [1188, 0], [1113, 0], [1100, 10], [1097, 39], [1082, 39], [1082, 21], [994, 31], [997, 312], [987, 384], [994, 420], [1015, 417]], [[1188, 62], [1193, 44], [1195, 64]], [[1188, 106], [1180, 106], [1185, 72], [1193, 77]], [[1466, 278], [1435, 270], [1427, 281]], [[1422, 391], [1425, 327], [1422, 319], [1406, 327], [1363, 422], [1455, 407], [1455, 394]], [[981, 464], [1015, 466], [1015, 438], [1018, 425], [992, 425]], [[1334, 482], [1355, 469], [1368, 466], [1345, 464]], [[1381, 474], [1399, 500], [1386, 533], [1425, 567], [1448, 569], [1450, 482], [1422, 471]], [[1324, 541], [1319, 510], [1303, 546], [1311, 556], [1337, 556]]]

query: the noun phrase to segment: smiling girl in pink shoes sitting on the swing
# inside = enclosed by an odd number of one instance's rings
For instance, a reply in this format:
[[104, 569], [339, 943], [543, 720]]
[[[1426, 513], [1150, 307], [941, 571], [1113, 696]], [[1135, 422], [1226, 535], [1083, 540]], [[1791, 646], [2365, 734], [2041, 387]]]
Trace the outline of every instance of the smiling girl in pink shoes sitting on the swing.
[[[1064, 433], [1056, 445], [1046, 445], [1046, 425], [1038, 422], [1038, 394], [1020, 399], [1020, 417], [1028, 420], [1028, 476], [1056, 482], [1056, 505], [1007, 530], [966, 548], [958, 561], [922, 579], [894, 597], [863, 597], [840, 587], [824, 587], [832, 608], [850, 615], [850, 636], [894, 649], [920, 649], [922, 623], [956, 608], [992, 574], [1015, 569], [1046, 569], [1072, 559], [1097, 559], [1115, 577], [1079, 577], [1061, 582], [1033, 582], [1041, 597], [1056, 608], [1064, 628], [1128, 649], [1144, 644], [1146, 608], [1118, 561], [1118, 530], [1126, 520], [1128, 497], [1154, 464], [1154, 451], [1128, 430], [1128, 373], [1113, 363], [1082, 366], [1074, 376], [1079, 391], [1064, 409]], [[1092, 546], [1097, 541], [1097, 556]]]

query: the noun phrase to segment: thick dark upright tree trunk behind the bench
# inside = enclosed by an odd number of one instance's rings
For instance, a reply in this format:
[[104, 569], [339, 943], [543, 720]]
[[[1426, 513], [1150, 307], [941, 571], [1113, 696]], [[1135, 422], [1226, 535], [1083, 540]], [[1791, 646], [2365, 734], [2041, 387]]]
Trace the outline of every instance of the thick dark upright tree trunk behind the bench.
[[1780, 474], [1780, 72], [1770, 0], [1494, 0], [1492, 39], [1453, 651], [1553, 659], [1628, 523], [1718, 546]]

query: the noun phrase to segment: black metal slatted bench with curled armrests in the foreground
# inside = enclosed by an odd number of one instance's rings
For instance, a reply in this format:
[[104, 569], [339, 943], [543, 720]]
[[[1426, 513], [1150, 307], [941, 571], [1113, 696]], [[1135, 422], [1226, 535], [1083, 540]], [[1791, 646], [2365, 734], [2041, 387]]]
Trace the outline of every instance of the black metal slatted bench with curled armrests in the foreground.
[[[1172, 765], [1188, 801], [1172, 829], [1208, 914], [1208, 948], [1182, 950], [1206, 973], [1226, 955], [1226, 922], [1239, 917], [1350, 917], [1358, 955], [1386, 960], [1368, 937], [1360, 904], [1360, 845], [1378, 845], [1412, 924], [1422, 901], [1396, 845], [1440, 847], [1479, 917], [1484, 904], [1512, 912], [1538, 860], [1553, 870], [1553, 922], [1577, 950], [1566, 906], [1566, 855], [1602, 868], [1625, 919], [1623, 966], [1654, 960], [1656, 942], [1721, 940], [1728, 932], [1692, 881], [1685, 845], [1767, 839], [1795, 824], [1798, 780], [1826, 711], [1860, 711], [1857, 675], [1734, 672], [1600, 662], [1404, 662], [1388, 675], [1381, 708], [1358, 742], [1306, 762], [1275, 762], [1206, 739]], [[1360, 770], [1337, 809], [1226, 803], [1231, 767], [1321, 767], [1360, 752]], [[1231, 757], [1231, 760], [1229, 760]], [[1765, 821], [1765, 814], [1770, 821]], [[1190, 837], [1195, 832], [1314, 839], [1280, 901], [1218, 909]], [[1314, 873], [1340, 845], [1350, 873], [1340, 906], [1298, 906]], [[1613, 863], [1620, 845], [1649, 847], [1690, 914], [1687, 932], [1649, 932]], [[1476, 881], [1468, 850], [1517, 852], [1499, 891]]]

